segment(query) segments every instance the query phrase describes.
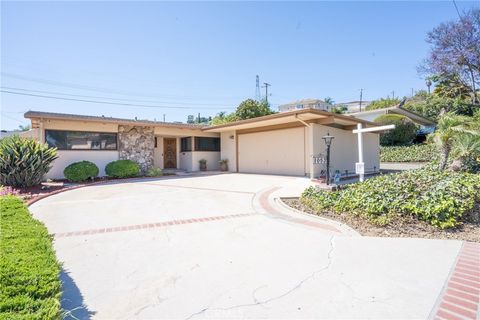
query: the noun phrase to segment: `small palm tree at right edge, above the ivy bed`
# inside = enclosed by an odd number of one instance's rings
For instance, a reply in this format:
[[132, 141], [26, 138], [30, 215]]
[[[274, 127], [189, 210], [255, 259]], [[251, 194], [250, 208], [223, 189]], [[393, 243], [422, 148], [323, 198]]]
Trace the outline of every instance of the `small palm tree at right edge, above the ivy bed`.
[[453, 112], [442, 113], [438, 120], [437, 129], [429, 138], [439, 145], [441, 152], [439, 169], [445, 170], [455, 137], [462, 134], [478, 135], [480, 131], [475, 128], [470, 117], [457, 115]]

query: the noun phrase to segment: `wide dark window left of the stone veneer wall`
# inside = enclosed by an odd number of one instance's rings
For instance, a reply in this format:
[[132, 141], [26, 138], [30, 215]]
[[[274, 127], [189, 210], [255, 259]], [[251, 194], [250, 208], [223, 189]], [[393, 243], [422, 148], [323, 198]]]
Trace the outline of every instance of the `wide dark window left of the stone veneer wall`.
[[45, 140], [58, 150], [117, 150], [117, 134], [45, 130]]

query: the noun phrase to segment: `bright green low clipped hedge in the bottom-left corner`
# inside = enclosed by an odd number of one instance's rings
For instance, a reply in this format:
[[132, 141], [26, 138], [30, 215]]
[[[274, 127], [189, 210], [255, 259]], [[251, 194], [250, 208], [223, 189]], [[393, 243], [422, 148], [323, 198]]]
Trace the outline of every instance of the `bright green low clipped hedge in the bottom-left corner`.
[[0, 197], [0, 319], [60, 319], [60, 265], [45, 226]]

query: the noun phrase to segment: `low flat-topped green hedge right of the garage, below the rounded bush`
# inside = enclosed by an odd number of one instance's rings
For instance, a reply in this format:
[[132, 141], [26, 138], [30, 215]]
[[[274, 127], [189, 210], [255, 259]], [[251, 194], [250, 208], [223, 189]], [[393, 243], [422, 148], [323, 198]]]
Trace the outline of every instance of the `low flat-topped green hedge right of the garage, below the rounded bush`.
[[430, 162], [438, 160], [438, 156], [438, 148], [433, 143], [380, 147], [381, 162]]

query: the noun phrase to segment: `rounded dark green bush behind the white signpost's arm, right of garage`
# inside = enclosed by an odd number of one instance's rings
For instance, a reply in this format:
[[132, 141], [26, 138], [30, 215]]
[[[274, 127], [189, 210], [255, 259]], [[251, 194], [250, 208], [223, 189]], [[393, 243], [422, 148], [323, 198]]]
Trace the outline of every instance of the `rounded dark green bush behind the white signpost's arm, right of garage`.
[[374, 121], [380, 125], [395, 125], [395, 129], [380, 134], [382, 146], [404, 145], [412, 142], [417, 135], [417, 126], [410, 119], [399, 114], [384, 114]]

